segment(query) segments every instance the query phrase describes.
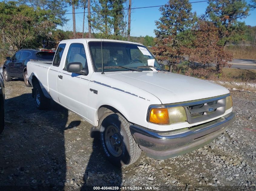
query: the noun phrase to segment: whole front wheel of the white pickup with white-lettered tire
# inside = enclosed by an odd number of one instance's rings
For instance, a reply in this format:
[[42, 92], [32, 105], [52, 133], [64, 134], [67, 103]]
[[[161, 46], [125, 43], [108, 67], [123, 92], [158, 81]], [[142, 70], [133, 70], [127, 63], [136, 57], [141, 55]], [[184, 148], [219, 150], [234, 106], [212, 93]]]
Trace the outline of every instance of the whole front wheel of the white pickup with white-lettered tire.
[[118, 167], [134, 163], [141, 154], [141, 149], [131, 135], [130, 125], [121, 114], [115, 113], [107, 116], [100, 127], [103, 151], [108, 160]]

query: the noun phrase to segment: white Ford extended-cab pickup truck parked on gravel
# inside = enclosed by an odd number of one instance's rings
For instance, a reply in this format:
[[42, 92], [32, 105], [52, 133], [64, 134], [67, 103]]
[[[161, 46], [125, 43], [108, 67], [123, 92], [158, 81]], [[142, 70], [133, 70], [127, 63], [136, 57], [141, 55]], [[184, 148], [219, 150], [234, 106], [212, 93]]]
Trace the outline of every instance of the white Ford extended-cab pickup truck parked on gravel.
[[38, 109], [50, 100], [100, 133], [107, 158], [129, 165], [141, 150], [156, 159], [208, 144], [235, 120], [230, 92], [161, 69], [142, 44], [106, 39], [59, 43], [52, 63], [27, 64]]

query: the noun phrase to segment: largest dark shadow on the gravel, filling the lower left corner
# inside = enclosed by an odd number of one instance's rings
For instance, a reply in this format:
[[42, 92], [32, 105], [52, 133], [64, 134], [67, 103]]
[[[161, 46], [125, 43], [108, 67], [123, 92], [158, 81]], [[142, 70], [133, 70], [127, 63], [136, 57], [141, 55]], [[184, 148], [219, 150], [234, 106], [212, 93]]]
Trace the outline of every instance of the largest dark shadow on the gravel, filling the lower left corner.
[[[67, 109], [52, 102], [50, 110], [38, 110], [32, 94], [5, 100], [0, 190], [64, 189], [67, 121]], [[80, 121], [71, 122], [68, 128], [77, 124]]]

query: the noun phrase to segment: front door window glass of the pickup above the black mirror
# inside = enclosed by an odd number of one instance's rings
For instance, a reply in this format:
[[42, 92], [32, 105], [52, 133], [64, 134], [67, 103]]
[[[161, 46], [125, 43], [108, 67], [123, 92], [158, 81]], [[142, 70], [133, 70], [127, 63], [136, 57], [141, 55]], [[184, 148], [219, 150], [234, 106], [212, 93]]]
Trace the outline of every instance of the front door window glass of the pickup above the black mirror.
[[83, 68], [87, 65], [86, 56], [85, 56], [85, 47], [80, 43], [72, 43], [68, 48], [67, 59], [65, 62], [65, 69], [71, 62], [81, 62]]

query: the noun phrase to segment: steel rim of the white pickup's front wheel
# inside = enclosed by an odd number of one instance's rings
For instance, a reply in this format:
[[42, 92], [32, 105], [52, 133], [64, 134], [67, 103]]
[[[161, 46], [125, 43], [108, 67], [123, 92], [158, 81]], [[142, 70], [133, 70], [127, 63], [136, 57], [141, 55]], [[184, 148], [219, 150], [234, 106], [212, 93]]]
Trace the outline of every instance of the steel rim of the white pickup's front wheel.
[[123, 153], [124, 142], [120, 131], [113, 125], [108, 126], [105, 131], [105, 141], [108, 151], [115, 157]]

